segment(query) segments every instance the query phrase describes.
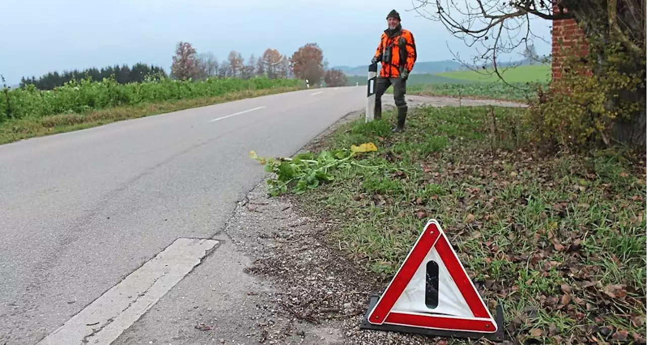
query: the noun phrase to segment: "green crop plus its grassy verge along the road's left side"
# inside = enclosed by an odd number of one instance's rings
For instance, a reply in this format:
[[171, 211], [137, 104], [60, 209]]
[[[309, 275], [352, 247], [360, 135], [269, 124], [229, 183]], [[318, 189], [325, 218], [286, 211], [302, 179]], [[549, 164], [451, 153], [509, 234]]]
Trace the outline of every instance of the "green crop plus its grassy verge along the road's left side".
[[0, 144], [116, 120], [296, 90], [296, 79], [239, 78], [201, 82], [162, 79], [120, 85], [70, 82], [52, 91], [30, 85], [0, 95]]

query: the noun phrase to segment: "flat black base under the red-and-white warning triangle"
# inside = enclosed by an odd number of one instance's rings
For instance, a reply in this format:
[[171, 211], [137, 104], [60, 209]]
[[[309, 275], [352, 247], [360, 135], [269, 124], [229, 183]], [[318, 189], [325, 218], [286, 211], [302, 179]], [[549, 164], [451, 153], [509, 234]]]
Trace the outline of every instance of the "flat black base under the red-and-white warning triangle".
[[362, 324], [360, 328], [363, 329], [372, 329], [374, 331], [393, 331], [400, 333], [417, 333], [422, 335], [430, 335], [433, 337], [445, 337], [445, 338], [468, 338], [468, 339], [488, 339], [494, 342], [503, 341], [503, 307], [499, 304], [496, 306], [496, 313], [494, 315], [494, 320], [497, 324], [498, 331], [496, 333], [477, 333], [477, 332], [461, 332], [461, 331], [442, 331], [439, 329], [428, 329], [428, 328], [419, 328], [419, 327], [410, 327], [410, 326], [395, 326], [389, 324], [374, 325], [368, 322], [368, 313], [371, 312], [375, 304], [377, 304], [380, 296], [373, 295], [371, 296], [371, 302], [369, 302], [368, 309], [364, 318], [362, 319]]

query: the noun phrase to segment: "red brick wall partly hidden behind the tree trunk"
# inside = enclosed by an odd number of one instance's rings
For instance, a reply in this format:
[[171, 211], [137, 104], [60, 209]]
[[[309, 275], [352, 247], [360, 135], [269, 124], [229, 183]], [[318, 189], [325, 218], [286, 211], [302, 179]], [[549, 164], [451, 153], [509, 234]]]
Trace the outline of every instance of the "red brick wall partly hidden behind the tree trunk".
[[[558, 13], [558, 8], [554, 8]], [[584, 32], [578, 27], [575, 19], [557, 19], [553, 21], [553, 81], [562, 76], [562, 63], [567, 56], [584, 56], [588, 53], [588, 45]]]

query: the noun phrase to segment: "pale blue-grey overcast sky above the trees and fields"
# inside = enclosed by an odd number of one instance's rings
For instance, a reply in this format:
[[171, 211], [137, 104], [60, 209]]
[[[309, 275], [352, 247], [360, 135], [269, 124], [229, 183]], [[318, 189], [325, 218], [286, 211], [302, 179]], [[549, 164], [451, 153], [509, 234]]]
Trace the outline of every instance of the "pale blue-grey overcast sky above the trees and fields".
[[[179, 41], [218, 60], [232, 49], [247, 60], [270, 47], [291, 55], [316, 42], [331, 67], [364, 65], [393, 8], [415, 36], [418, 61], [454, 58], [448, 45], [461, 58], [477, 53], [412, 7], [411, 0], [0, 0], [0, 74], [15, 84], [22, 76], [139, 61], [168, 71]], [[531, 28], [550, 41], [549, 22]], [[549, 44], [534, 44], [549, 54]]]

